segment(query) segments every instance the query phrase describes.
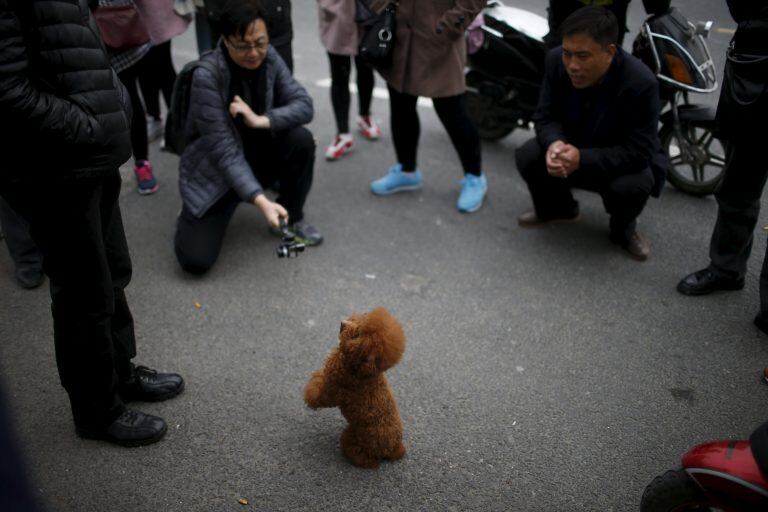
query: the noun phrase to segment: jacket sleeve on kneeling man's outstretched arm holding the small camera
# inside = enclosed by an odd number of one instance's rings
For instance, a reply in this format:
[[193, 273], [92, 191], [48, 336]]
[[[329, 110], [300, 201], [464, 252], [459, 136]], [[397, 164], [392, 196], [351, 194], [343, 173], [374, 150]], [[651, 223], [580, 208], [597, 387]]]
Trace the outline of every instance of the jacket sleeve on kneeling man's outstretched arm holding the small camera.
[[229, 117], [229, 106], [218, 80], [203, 67], [195, 70], [189, 101], [190, 115], [208, 159], [240, 199], [252, 201], [262, 192], [262, 187], [245, 159], [240, 136]]

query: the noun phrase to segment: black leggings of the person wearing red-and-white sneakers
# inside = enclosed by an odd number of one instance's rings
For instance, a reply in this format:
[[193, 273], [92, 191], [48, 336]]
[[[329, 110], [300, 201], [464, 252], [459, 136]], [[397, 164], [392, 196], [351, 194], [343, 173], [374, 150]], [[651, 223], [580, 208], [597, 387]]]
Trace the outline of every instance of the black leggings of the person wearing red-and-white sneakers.
[[[352, 58], [328, 52], [331, 63], [331, 105], [336, 116], [339, 133], [349, 133], [349, 75], [352, 72]], [[355, 56], [357, 70], [357, 97], [361, 117], [371, 113], [373, 95], [373, 68]]]

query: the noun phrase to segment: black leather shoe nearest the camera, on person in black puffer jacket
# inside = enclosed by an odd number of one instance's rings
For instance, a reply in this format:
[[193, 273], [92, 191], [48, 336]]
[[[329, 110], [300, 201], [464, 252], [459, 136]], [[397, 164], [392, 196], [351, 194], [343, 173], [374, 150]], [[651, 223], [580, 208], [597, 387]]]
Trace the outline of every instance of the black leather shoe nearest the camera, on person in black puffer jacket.
[[144, 446], [158, 442], [168, 426], [162, 418], [126, 409], [115, 421], [101, 429], [75, 427], [84, 439], [97, 439], [120, 446]]

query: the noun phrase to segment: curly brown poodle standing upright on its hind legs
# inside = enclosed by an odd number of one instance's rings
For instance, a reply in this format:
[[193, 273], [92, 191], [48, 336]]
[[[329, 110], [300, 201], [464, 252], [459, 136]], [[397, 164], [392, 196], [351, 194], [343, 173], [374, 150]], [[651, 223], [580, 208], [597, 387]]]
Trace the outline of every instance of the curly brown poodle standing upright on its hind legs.
[[382, 459], [405, 455], [403, 422], [384, 376], [404, 351], [403, 328], [389, 311], [352, 315], [341, 322], [339, 345], [323, 369], [307, 382], [308, 406], [338, 407], [349, 422], [341, 450], [356, 466], [377, 468]]

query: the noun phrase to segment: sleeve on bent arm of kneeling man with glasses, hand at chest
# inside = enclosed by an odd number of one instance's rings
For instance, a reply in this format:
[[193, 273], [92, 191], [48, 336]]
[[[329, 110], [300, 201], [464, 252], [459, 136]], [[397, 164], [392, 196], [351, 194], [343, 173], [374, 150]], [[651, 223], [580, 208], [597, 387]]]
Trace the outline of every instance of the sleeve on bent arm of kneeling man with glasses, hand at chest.
[[270, 48], [269, 51], [274, 52], [269, 59], [269, 65], [274, 66], [275, 71], [274, 107], [264, 115], [269, 118], [272, 131], [279, 132], [309, 123], [314, 116], [312, 98], [291, 76], [288, 66], [277, 56], [275, 49]]

